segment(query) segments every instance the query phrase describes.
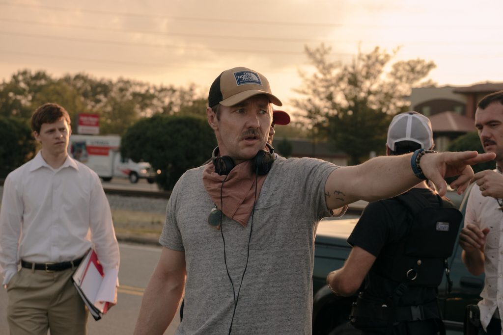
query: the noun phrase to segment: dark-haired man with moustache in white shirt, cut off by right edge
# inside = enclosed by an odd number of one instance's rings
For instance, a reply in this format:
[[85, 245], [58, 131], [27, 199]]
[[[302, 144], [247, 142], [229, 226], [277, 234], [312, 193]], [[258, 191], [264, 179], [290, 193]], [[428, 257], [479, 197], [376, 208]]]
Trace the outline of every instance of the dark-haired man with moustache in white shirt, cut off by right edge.
[[486, 333], [499, 335], [503, 316], [503, 91], [479, 101], [475, 127], [484, 151], [496, 154], [496, 170], [475, 174], [477, 185], [470, 191], [459, 243], [468, 271], [477, 276], [485, 273], [478, 303], [480, 323]]

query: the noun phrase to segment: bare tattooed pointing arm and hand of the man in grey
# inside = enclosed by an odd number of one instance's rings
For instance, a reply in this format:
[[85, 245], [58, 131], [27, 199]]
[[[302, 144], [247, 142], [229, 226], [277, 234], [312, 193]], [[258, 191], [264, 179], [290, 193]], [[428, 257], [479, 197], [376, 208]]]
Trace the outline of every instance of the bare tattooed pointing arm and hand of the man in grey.
[[[357, 200], [375, 201], [405, 192], [421, 179], [410, 166], [412, 154], [376, 157], [357, 165], [334, 170], [325, 183], [325, 199], [329, 209], [339, 208]], [[445, 195], [444, 177], [459, 176], [451, 187], [462, 193], [473, 177], [470, 165], [494, 159], [493, 153], [476, 151], [425, 154], [420, 167], [439, 191]]]

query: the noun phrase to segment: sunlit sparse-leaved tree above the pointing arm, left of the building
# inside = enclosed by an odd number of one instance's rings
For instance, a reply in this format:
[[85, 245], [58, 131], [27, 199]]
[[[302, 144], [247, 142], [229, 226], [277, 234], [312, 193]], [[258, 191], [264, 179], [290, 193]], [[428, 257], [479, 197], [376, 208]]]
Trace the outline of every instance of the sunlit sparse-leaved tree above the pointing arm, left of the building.
[[331, 60], [331, 48], [324, 45], [305, 51], [315, 72], [300, 73], [303, 85], [296, 91], [304, 98], [293, 100], [301, 111], [297, 115], [313, 143], [328, 139], [333, 150], [350, 156], [351, 164], [367, 159], [370, 151], [383, 153], [389, 122], [407, 109], [411, 87], [432, 84], [421, 80], [435, 68], [433, 62], [415, 59], [389, 66], [395, 52], [379, 47], [359, 52], [349, 64]]

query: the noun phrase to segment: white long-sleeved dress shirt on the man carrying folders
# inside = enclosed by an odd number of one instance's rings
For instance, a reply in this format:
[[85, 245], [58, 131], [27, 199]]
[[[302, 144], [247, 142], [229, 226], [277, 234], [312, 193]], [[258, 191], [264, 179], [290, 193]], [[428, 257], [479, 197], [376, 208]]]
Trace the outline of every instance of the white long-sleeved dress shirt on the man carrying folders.
[[119, 246], [110, 205], [93, 170], [70, 157], [53, 169], [39, 152], [7, 176], [0, 210], [3, 284], [21, 260], [70, 261], [93, 244], [105, 274], [116, 276]]

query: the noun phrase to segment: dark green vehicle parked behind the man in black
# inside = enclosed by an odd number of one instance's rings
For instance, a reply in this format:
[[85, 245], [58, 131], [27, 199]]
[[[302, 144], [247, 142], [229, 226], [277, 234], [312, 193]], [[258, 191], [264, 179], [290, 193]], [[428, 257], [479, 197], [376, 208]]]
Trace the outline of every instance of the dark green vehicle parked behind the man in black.
[[[468, 194], [468, 192], [466, 192]], [[464, 214], [467, 196], [461, 202], [460, 210]], [[347, 259], [351, 246], [346, 242], [358, 219], [323, 219], [318, 225], [314, 242], [313, 269], [313, 334], [314, 335], [357, 335], [358, 329], [349, 323], [353, 297], [340, 297], [333, 294], [326, 285], [326, 276], [330, 271], [339, 269]], [[462, 227], [463, 225], [461, 225]], [[460, 229], [461, 229], [460, 227]], [[459, 236], [459, 235], [458, 235]], [[465, 306], [477, 303], [484, 285], [484, 275], [473, 276], [461, 261], [461, 247], [456, 241], [453, 254], [449, 258], [453, 287], [447, 291], [444, 275], [439, 286], [439, 303], [448, 334], [463, 333]]]

